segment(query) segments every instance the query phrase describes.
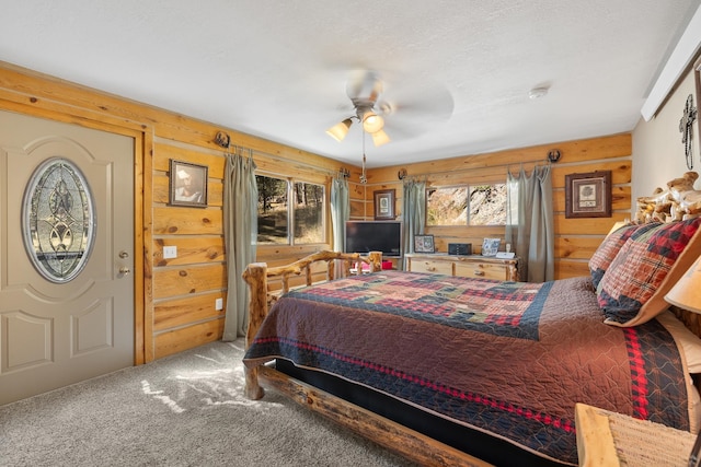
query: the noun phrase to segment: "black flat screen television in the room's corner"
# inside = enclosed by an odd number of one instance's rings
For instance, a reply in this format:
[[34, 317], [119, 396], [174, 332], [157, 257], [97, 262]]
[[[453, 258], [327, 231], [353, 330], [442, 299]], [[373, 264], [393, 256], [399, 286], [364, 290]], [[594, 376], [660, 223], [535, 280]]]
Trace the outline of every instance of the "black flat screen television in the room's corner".
[[347, 221], [345, 253], [382, 252], [382, 257], [402, 256], [400, 221]]

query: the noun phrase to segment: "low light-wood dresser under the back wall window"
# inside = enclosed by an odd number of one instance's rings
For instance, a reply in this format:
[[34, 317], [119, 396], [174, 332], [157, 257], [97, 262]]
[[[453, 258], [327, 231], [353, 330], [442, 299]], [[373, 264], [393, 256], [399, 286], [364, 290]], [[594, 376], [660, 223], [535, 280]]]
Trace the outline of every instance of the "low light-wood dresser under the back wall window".
[[453, 256], [440, 253], [407, 254], [406, 270], [413, 272], [434, 272], [460, 276], [518, 281], [518, 258], [501, 259], [480, 255]]

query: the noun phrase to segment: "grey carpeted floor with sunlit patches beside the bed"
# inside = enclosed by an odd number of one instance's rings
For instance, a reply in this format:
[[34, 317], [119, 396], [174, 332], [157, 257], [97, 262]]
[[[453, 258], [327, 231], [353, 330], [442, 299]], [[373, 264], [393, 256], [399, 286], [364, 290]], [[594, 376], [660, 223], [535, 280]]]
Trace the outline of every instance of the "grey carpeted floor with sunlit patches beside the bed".
[[[212, 342], [0, 407], [0, 466], [409, 466], [268, 392]], [[0, 389], [1, 390], [1, 389]]]

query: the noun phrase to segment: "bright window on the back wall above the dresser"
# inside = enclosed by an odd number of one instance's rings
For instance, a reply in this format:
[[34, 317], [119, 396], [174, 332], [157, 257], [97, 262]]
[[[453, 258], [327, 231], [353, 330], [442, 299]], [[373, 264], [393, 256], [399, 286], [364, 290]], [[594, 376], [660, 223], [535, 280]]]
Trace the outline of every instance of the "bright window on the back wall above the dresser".
[[426, 225], [505, 225], [506, 185], [467, 185], [426, 190]]

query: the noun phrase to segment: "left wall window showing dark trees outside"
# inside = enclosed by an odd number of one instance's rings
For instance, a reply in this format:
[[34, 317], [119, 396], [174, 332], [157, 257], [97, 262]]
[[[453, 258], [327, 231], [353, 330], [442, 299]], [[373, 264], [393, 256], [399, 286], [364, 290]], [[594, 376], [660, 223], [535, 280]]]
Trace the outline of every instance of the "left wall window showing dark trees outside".
[[324, 242], [322, 185], [264, 175], [256, 175], [255, 180], [258, 187], [258, 245]]

